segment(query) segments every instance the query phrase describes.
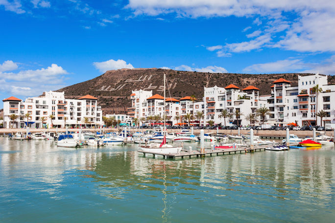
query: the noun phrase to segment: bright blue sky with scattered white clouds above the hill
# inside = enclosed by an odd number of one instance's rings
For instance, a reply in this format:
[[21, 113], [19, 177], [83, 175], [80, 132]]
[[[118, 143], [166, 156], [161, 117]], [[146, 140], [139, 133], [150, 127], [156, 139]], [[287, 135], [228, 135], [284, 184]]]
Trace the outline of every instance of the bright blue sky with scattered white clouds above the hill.
[[1, 98], [119, 68], [335, 74], [332, 0], [0, 0], [0, 27]]

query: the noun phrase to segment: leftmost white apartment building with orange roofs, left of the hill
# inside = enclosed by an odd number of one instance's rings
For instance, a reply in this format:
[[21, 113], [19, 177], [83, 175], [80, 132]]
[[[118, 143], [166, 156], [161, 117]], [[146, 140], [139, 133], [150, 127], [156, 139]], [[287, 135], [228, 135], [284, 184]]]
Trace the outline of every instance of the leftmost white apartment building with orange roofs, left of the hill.
[[[97, 98], [85, 95], [79, 99], [66, 99], [64, 92], [46, 91], [40, 97], [27, 98], [22, 101], [16, 97], [3, 99], [4, 128], [78, 127], [97, 126], [102, 124], [101, 107], [97, 105]], [[30, 117], [25, 117], [25, 114]], [[16, 114], [17, 119], [11, 120], [10, 115]], [[54, 118], [51, 120], [49, 115]], [[42, 122], [41, 118], [45, 121]], [[84, 123], [84, 118], [88, 122]]]

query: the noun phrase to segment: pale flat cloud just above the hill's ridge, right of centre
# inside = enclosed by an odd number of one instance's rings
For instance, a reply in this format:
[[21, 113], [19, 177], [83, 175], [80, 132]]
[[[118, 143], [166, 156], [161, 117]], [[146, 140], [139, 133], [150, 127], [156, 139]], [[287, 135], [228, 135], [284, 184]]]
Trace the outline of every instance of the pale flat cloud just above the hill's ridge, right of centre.
[[257, 73], [276, 73], [276, 72], [295, 72], [307, 68], [301, 59], [286, 59], [276, 62], [254, 64], [243, 69], [244, 72], [257, 72]]

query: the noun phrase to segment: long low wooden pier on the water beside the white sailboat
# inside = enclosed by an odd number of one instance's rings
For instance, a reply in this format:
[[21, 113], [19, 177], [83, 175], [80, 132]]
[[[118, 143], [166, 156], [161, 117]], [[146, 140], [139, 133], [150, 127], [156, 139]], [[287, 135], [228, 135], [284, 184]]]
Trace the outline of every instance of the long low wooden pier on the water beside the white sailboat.
[[255, 147], [251, 148], [238, 148], [238, 149], [215, 149], [215, 150], [206, 150], [205, 153], [200, 153], [197, 150], [182, 150], [179, 154], [165, 154], [165, 153], [155, 153], [155, 152], [146, 152], [143, 150], [138, 150], [137, 152], [143, 153], [144, 157], [146, 154], [151, 154], [154, 158], [156, 156], [163, 156], [164, 159], [176, 159], [176, 158], [191, 158], [191, 157], [205, 157], [205, 156], [219, 156], [219, 155], [229, 155], [229, 154], [238, 154], [238, 153], [252, 153], [257, 151], [265, 151], [266, 147]]

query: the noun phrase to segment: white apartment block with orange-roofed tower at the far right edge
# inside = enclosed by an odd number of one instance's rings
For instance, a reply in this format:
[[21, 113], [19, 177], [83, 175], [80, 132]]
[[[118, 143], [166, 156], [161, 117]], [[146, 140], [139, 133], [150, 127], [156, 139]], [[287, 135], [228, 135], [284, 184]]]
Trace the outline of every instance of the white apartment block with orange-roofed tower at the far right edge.
[[[297, 123], [300, 126], [320, 125], [321, 118], [316, 116], [320, 110], [327, 112], [323, 118], [323, 124], [335, 120], [335, 85], [328, 85], [326, 75], [313, 74], [298, 76], [298, 86], [283, 78], [273, 82], [271, 95], [266, 97], [267, 107], [270, 110], [269, 121], [275, 124]], [[313, 91], [318, 85], [321, 92]], [[317, 107], [317, 108], [316, 108]], [[317, 109], [317, 111], [316, 111]]]

